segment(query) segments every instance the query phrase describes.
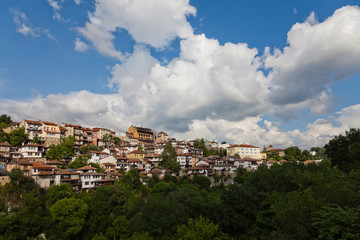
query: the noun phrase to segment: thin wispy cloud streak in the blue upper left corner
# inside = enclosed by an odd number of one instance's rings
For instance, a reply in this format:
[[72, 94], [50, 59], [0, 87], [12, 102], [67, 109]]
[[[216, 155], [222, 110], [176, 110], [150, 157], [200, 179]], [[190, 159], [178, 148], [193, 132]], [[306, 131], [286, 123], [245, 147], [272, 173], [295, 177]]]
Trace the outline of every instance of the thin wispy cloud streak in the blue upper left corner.
[[16, 24], [16, 31], [25, 37], [40, 38], [45, 35], [48, 39], [57, 41], [57, 39], [50, 34], [48, 29], [33, 27], [26, 14], [16, 9], [10, 9], [13, 14], [13, 21]]

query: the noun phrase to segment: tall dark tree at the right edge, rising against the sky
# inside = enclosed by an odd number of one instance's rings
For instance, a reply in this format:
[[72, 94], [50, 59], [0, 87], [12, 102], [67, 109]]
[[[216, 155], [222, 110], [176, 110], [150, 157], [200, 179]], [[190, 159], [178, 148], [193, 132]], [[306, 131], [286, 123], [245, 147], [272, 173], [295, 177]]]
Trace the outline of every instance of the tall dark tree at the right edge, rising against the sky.
[[325, 152], [333, 167], [344, 172], [360, 168], [360, 129], [352, 128], [345, 135], [331, 139], [325, 145]]

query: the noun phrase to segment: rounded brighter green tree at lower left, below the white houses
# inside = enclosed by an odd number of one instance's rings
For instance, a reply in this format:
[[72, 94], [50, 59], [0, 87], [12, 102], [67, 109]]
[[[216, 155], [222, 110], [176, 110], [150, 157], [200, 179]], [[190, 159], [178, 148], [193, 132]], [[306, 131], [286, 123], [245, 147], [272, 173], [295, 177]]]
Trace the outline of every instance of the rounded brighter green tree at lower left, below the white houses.
[[49, 210], [58, 239], [67, 239], [79, 234], [82, 230], [88, 206], [81, 199], [64, 198], [57, 201]]

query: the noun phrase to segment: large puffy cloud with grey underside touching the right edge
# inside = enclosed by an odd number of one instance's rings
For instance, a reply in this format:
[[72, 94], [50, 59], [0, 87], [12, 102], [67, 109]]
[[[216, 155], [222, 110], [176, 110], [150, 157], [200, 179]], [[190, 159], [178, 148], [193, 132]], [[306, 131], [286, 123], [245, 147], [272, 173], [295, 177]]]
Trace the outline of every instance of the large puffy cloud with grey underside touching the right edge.
[[291, 28], [288, 43], [264, 62], [272, 69], [269, 101], [281, 108], [292, 104], [295, 111], [303, 105], [326, 113], [328, 108], [312, 105], [314, 101], [326, 105], [330, 85], [360, 69], [360, 8], [340, 8], [321, 23], [311, 13]]

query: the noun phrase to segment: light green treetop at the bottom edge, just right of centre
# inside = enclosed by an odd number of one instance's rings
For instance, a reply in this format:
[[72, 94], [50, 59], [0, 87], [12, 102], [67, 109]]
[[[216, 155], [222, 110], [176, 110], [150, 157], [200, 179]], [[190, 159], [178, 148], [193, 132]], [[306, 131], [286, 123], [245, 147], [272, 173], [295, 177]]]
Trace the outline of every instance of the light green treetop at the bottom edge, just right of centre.
[[181, 225], [175, 234], [178, 240], [221, 240], [230, 239], [224, 234], [218, 225], [207, 218], [200, 216], [197, 219], [190, 218], [187, 225]]

